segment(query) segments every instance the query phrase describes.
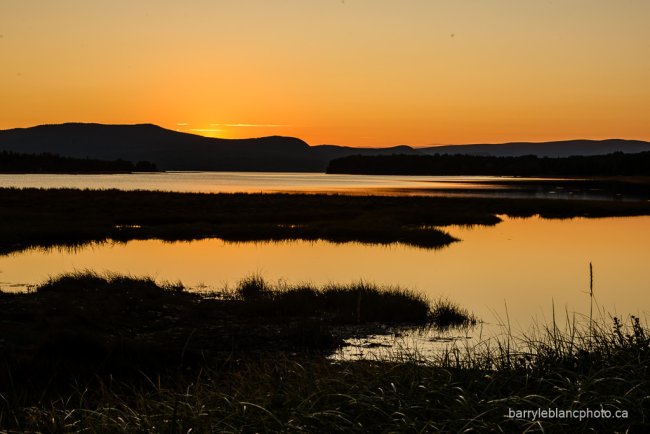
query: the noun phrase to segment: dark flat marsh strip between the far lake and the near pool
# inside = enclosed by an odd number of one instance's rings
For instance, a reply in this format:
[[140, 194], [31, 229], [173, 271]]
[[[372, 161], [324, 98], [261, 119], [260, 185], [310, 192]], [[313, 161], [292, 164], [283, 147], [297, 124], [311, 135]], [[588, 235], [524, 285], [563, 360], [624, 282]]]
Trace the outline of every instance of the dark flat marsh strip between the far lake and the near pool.
[[436, 248], [450, 224], [526, 217], [650, 214], [650, 202], [194, 194], [154, 191], [0, 188], [0, 253], [107, 239], [328, 240]]

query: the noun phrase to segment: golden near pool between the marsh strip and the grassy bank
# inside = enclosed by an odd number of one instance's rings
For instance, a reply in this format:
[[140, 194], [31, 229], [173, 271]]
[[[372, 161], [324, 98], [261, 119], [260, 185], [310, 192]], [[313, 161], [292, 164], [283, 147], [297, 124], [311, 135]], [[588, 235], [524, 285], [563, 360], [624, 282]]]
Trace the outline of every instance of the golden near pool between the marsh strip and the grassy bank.
[[[589, 312], [589, 263], [598, 306], [612, 315], [650, 312], [650, 217], [504, 218], [495, 226], [447, 227], [462, 241], [439, 250], [330, 242], [159, 240], [28, 250], [0, 256], [0, 287], [24, 290], [59, 273], [91, 269], [193, 290], [234, 286], [252, 273], [287, 283], [364, 280], [446, 297], [488, 324], [513, 331]], [[475, 332], [476, 333], [476, 332]]]

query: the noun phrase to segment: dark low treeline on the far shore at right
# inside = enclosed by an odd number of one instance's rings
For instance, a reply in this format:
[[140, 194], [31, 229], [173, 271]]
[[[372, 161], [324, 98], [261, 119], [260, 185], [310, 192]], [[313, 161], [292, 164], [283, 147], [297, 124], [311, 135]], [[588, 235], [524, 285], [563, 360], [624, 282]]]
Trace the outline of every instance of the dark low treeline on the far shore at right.
[[353, 155], [330, 161], [327, 173], [367, 175], [650, 176], [650, 152], [563, 158], [463, 154]]

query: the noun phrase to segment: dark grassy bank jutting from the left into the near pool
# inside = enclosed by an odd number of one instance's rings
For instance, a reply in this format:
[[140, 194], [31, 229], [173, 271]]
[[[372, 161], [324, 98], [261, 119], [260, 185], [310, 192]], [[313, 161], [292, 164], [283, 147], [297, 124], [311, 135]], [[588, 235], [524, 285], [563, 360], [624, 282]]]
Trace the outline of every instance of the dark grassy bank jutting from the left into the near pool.
[[[436, 313], [442, 305], [456, 311], [451, 321]], [[57, 393], [72, 377], [193, 368], [233, 353], [328, 354], [345, 338], [386, 332], [373, 324], [476, 322], [448, 302], [364, 283], [273, 286], [251, 276], [234, 291], [199, 295], [180, 283], [90, 272], [50, 279], [32, 293], [0, 293], [0, 311], [0, 396]]]

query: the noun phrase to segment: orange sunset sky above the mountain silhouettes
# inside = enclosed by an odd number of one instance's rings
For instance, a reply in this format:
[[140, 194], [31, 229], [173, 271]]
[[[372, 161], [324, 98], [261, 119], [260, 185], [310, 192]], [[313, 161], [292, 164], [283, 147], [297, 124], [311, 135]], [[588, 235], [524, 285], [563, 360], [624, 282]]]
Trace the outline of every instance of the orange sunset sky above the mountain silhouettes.
[[0, 129], [650, 140], [648, 0], [0, 0]]

